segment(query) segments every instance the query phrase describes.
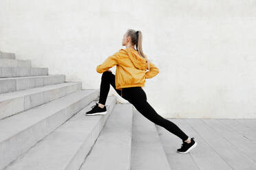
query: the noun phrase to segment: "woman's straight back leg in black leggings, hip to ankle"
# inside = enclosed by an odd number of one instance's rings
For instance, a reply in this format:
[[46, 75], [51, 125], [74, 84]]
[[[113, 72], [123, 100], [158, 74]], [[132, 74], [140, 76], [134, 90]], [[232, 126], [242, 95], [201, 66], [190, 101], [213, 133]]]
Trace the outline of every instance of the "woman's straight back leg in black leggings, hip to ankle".
[[140, 112], [144, 117], [153, 123], [164, 127], [169, 132], [181, 138], [182, 141], [186, 141], [189, 138], [189, 136], [180, 130], [175, 123], [161, 117], [156, 110], [150, 106], [150, 104], [147, 102], [147, 95], [142, 88], [129, 88], [128, 90], [123, 91], [123, 93], [129, 94], [129, 102], [133, 104], [138, 112]]

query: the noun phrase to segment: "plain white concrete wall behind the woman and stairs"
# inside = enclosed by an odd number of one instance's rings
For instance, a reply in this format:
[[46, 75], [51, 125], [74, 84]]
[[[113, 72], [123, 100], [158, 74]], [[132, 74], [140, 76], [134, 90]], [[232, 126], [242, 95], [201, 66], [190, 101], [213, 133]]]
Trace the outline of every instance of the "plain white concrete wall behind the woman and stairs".
[[164, 117], [256, 118], [255, 27], [255, 0], [0, 1], [0, 50], [83, 88], [99, 88], [96, 66], [141, 30], [160, 69], [144, 90]]

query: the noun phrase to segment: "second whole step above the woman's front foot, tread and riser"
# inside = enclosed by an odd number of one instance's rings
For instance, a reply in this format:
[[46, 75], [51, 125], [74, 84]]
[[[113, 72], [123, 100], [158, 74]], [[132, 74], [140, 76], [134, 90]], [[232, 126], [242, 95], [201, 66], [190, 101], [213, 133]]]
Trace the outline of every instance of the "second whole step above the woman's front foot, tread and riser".
[[27, 90], [19, 90], [12, 93], [2, 93], [0, 94], [0, 119], [23, 112], [41, 104], [46, 104], [49, 101], [81, 90], [81, 88], [81, 82], [65, 82], [38, 88], [29, 88]]

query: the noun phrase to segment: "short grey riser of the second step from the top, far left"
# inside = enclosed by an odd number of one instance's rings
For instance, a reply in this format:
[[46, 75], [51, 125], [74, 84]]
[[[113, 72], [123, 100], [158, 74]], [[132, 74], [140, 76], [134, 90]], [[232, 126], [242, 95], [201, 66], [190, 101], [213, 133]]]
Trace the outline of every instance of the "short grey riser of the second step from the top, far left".
[[7, 58], [0, 58], [0, 67], [4, 67], [4, 66], [11, 66], [11, 67], [26, 66], [26, 67], [31, 67], [31, 61], [30, 60], [13, 60], [13, 59], [7, 59]]

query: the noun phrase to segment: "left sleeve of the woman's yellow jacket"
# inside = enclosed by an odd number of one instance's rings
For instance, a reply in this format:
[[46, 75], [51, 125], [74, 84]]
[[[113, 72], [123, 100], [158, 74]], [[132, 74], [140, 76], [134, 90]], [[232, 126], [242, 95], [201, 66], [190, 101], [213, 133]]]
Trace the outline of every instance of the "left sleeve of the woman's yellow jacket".
[[[119, 51], [118, 51], [119, 52]], [[118, 52], [114, 53], [113, 56], [109, 56], [104, 62], [103, 64], [100, 64], [96, 67], [96, 71], [98, 73], [103, 73], [105, 71], [107, 71], [108, 69], [110, 69], [111, 67], [115, 66], [118, 64]]]

